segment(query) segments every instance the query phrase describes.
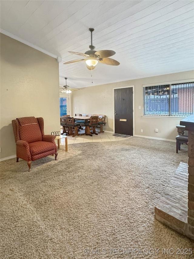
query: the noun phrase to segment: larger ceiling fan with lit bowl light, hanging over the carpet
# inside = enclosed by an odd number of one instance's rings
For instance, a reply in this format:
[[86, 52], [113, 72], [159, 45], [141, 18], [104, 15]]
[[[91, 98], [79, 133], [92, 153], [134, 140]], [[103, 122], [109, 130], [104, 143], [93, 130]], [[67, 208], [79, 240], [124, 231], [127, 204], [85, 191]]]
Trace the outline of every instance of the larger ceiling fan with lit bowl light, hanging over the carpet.
[[113, 55], [115, 55], [115, 51], [113, 50], [99, 50], [95, 51], [95, 46], [92, 45], [92, 32], [94, 31], [94, 28], [89, 28], [89, 31], [91, 32], [91, 45], [89, 45], [90, 50], [86, 51], [85, 53], [79, 53], [79, 52], [73, 52], [68, 51], [71, 54], [77, 54], [84, 56], [86, 58], [83, 59], [75, 59], [68, 62], [65, 62], [63, 64], [70, 64], [78, 61], [85, 61], [86, 67], [89, 70], [93, 70], [95, 66], [99, 63], [106, 64], [106, 65], [112, 65], [112, 66], [118, 66], [120, 63], [116, 61], [115, 59], [109, 58]]

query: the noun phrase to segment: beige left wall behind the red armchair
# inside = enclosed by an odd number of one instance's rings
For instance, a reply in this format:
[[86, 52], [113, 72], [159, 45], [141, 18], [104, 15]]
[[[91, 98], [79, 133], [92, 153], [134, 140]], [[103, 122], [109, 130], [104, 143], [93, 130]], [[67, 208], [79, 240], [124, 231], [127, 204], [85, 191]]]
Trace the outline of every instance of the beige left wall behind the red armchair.
[[12, 120], [44, 118], [45, 134], [60, 130], [59, 63], [1, 34], [1, 158], [16, 154]]

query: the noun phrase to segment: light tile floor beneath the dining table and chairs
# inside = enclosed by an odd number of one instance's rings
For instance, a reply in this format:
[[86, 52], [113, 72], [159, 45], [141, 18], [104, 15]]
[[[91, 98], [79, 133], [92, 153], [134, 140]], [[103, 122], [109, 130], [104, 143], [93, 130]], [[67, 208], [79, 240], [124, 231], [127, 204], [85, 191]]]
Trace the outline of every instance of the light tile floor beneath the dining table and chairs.
[[[61, 130], [62, 132], [62, 130]], [[79, 131], [79, 133], [84, 133], [85, 131], [81, 130]], [[98, 129], [96, 129], [96, 132], [99, 132]], [[84, 142], [104, 142], [104, 141], [119, 141], [119, 140], [124, 140], [125, 138], [121, 138], [121, 137], [115, 137], [112, 136], [113, 133], [100, 133], [98, 135], [93, 134], [92, 137], [91, 136], [86, 136], [86, 135], [82, 135], [82, 136], [68, 136], [68, 140], [67, 143], [68, 144], [74, 144], [74, 143], [84, 143]], [[64, 134], [65, 135], [65, 134]], [[61, 144], [65, 145], [65, 138], [61, 139]]]

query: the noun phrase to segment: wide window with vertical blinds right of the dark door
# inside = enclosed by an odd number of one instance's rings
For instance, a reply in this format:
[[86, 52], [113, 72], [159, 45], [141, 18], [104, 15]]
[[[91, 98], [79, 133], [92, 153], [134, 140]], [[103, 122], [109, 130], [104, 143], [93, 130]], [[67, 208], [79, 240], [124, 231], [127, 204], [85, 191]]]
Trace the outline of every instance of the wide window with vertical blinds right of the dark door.
[[144, 115], [187, 117], [194, 109], [193, 82], [144, 87]]

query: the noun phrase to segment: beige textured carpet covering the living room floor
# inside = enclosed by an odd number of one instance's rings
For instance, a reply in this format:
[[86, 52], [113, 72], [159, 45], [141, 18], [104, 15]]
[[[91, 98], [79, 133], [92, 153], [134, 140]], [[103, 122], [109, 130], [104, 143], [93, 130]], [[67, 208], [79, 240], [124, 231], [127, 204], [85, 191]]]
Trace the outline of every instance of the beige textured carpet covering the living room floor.
[[175, 142], [131, 137], [68, 147], [58, 161], [33, 161], [31, 172], [22, 160], [1, 162], [1, 258], [193, 258], [176, 254], [193, 242], [154, 219], [165, 185], [188, 162], [186, 145], [176, 154]]

